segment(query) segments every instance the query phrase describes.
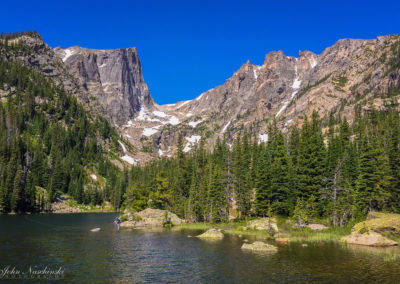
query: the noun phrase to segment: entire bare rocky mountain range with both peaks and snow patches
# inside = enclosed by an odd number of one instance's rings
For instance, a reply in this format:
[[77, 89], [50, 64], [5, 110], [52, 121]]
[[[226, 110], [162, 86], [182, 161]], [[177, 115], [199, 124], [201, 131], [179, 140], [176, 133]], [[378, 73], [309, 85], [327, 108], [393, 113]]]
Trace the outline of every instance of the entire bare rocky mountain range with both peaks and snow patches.
[[351, 122], [356, 104], [382, 109], [385, 101], [399, 102], [400, 97], [399, 35], [343, 39], [320, 55], [270, 52], [262, 65], [247, 62], [224, 84], [193, 100], [161, 106], [151, 98], [136, 48], [53, 50], [40, 38], [18, 40], [33, 52], [10, 60], [46, 74], [105, 115], [135, 147], [135, 155], [123, 147], [123, 160], [130, 164], [172, 155], [179, 133], [185, 152], [201, 138], [208, 147], [218, 137], [232, 143], [243, 129], [251, 129], [262, 142], [273, 119], [284, 131], [301, 126], [313, 110], [321, 117], [340, 113]]

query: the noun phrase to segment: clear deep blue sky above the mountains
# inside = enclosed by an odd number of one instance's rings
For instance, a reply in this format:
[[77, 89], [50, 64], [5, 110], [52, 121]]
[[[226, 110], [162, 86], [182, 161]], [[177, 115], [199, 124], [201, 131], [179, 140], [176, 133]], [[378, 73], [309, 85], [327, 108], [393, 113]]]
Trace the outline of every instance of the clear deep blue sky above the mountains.
[[52, 47], [136, 46], [159, 104], [192, 99], [266, 53], [321, 53], [341, 38], [400, 33], [400, 1], [7, 1], [0, 31], [37, 30]]

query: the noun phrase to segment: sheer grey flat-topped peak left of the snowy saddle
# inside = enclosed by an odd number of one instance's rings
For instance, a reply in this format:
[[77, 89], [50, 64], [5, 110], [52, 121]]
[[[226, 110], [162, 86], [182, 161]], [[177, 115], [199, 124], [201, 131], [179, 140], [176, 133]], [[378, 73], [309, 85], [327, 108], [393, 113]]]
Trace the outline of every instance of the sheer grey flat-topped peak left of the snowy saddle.
[[55, 54], [96, 101], [102, 114], [120, 126], [154, 102], [142, 75], [136, 48], [96, 50], [73, 46]]

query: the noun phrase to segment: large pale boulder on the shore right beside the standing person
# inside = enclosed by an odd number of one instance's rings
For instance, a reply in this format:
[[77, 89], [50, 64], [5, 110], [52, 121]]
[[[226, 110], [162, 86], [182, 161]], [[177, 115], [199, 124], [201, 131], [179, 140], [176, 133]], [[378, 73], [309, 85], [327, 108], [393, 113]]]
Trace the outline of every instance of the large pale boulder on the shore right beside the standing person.
[[166, 224], [179, 225], [182, 223], [176, 214], [168, 210], [147, 208], [137, 213], [127, 213], [128, 219], [121, 223], [123, 228], [146, 229], [154, 227], [163, 227]]

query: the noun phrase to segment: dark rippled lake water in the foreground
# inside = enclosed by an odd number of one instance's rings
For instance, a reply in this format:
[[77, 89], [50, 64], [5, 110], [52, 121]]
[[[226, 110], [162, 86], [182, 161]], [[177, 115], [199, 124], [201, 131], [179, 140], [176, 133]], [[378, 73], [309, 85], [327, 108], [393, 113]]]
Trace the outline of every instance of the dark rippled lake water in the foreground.
[[56, 283], [400, 283], [400, 261], [387, 261], [382, 249], [291, 244], [260, 255], [241, 251], [236, 236], [207, 242], [188, 237], [200, 233], [193, 230], [117, 232], [115, 216], [0, 215], [0, 270], [61, 266]]

